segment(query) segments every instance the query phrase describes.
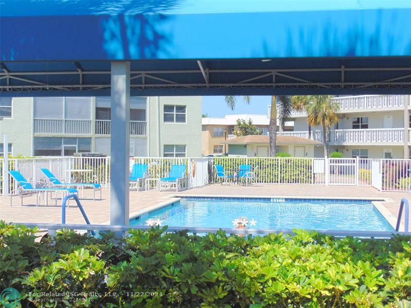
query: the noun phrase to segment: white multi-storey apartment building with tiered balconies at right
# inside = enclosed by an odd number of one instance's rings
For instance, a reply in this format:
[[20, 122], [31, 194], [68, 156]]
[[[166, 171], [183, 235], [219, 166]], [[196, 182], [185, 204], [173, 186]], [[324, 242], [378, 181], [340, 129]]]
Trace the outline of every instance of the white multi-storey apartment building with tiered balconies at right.
[[[330, 130], [330, 151], [342, 152], [346, 158], [409, 158], [409, 95], [358, 95], [332, 100], [339, 104], [340, 111], [339, 122]], [[308, 138], [307, 114], [293, 112], [292, 118], [294, 131], [283, 132], [283, 136]], [[322, 127], [312, 127], [311, 139], [323, 142]]]

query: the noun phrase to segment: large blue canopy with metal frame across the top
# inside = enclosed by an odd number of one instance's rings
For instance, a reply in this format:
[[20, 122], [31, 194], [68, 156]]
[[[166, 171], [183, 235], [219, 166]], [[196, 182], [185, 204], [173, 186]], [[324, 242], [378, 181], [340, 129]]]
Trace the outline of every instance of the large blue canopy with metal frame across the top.
[[411, 2], [3, 0], [0, 95], [409, 92]]

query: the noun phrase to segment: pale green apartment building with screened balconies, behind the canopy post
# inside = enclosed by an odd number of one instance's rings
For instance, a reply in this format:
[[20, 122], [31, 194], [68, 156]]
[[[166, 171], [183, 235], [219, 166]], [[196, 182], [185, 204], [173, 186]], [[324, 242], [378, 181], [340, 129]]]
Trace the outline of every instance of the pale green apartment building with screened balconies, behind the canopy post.
[[[0, 98], [0, 133], [14, 156], [109, 156], [111, 112], [109, 97]], [[200, 140], [201, 97], [130, 98], [130, 156], [198, 157]]]

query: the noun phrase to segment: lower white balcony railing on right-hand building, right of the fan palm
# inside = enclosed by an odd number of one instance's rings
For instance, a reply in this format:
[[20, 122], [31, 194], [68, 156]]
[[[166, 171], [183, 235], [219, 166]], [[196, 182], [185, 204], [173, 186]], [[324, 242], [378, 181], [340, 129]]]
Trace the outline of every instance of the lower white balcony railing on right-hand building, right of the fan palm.
[[335, 129], [330, 131], [331, 144], [375, 142], [404, 142], [404, 129]]

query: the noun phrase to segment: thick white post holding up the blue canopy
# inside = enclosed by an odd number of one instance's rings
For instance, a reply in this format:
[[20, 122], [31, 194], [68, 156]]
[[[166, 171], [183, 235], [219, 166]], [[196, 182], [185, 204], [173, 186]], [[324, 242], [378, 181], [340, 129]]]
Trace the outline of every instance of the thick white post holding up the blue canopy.
[[129, 219], [130, 63], [111, 62], [110, 224]]

